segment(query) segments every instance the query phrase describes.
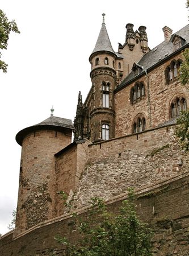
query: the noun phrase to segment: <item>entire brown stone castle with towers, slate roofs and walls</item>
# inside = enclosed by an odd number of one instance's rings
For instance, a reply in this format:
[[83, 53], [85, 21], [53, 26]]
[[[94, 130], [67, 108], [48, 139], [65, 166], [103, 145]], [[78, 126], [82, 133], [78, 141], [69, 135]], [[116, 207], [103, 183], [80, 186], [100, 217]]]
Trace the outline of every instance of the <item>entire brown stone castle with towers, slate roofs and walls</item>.
[[[68, 232], [70, 208], [82, 214], [92, 196], [111, 207], [128, 187], [140, 195], [141, 217], [157, 222], [166, 215], [172, 221], [157, 231], [171, 242], [157, 245], [156, 255], [188, 255], [189, 159], [174, 125], [189, 101], [188, 86], [178, 79], [189, 25], [175, 34], [163, 27], [165, 40], [149, 49], [146, 27], [134, 31], [129, 23], [115, 52], [104, 15], [89, 57], [92, 85], [85, 102], [79, 92], [74, 125], [54, 117], [52, 109], [51, 117], [16, 135], [22, 146], [16, 228], [1, 238], [1, 255], [52, 255], [48, 250], [57, 245], [51, 232]], [[58, 191], [68, 195], [69, 207]], [[152, 191], [161, 191], [158, 199], [146, 198]]]

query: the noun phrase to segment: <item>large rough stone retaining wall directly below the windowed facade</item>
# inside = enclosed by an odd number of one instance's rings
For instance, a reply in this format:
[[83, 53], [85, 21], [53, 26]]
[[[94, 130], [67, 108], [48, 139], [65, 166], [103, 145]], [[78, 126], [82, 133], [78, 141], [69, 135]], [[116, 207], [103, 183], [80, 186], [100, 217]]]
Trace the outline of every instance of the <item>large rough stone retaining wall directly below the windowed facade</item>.
[[91, 197], [109, 200], [128, 187], [144, 188], [187, 172], [188, 153], [180, 150], [173, 133], [173, 127], [162, 127], [89, 146], [74, 207], [89, 205]]

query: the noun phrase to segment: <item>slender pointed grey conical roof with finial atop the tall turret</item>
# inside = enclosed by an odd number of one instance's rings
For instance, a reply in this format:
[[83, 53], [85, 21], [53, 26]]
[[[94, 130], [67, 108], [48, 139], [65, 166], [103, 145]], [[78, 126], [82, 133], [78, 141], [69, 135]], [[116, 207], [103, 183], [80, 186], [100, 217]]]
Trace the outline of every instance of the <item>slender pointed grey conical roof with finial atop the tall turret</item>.
[[108, 52], [112, 52], [115, 54], [114, 49], [112, 48], [111, 42], [110, 42], [110, 38], [108, 36], [108, 32], [106, 30], [106, 24], [104, 23], [104, 15], [103, 15], [103, 23], [102, 23], [102, 28], [100, 30], [95, 48], [93, 50], [93, 52], [91, 53], [91, 55], [93, 55], [93, 53], [95, 52], [99, 52], [99, 51], [108, 51]]

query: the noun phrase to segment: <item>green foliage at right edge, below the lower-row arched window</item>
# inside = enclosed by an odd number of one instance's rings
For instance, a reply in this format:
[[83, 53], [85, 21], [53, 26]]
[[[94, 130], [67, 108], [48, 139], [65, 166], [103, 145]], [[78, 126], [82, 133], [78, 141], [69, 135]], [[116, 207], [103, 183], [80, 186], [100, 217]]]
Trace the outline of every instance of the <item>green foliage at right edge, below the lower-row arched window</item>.
[[189, 151], [189, 110], [183, 111], [177, 119], [175, 135], [179, 138], [183, 150]]

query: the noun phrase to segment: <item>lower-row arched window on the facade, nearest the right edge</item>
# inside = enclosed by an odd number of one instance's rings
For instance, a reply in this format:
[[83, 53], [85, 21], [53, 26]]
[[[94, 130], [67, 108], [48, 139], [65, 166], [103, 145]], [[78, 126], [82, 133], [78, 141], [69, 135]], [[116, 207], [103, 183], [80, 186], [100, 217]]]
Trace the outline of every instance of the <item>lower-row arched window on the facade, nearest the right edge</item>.
[[187, 109], [187, 104], [186, 104], [186, 98], [184, 97], [175, 97], [173, 101], [171, 101], [171, 106], [170, 106], [170, 117], [178, 117], [180, 115], [180, 112], [182, 110]]

